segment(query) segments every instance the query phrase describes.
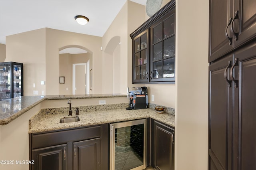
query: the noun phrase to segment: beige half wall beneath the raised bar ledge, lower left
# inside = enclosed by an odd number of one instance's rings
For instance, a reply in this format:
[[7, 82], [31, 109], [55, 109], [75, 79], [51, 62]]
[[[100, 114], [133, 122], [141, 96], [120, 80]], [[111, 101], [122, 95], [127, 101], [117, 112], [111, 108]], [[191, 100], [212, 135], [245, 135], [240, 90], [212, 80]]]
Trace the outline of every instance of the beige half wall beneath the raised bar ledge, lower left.
[[28, 170], [28, 164], [16, 164], [16, 160], [29, 159], [28, 120], [41, 108], [36, 105], [14, 121], [0, 126], [0, 160], [14, 160], [14, 164], [1, 164], [1, 170]]

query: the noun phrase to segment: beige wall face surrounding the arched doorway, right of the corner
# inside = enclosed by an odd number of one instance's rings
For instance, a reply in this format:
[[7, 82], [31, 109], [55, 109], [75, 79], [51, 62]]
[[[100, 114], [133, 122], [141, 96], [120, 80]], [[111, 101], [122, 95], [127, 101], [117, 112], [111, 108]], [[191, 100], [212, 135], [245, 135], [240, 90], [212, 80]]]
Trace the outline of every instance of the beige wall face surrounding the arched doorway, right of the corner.
[[[76, 45], [86, 49], [91, 54], [90, 69], [92, 69], [92, 91], [90, 94], [102, 93], [102, 38], [86, 34], [78, 34], [46, 28], [46, 87], [47, 95], [59, 93], [59, 49]], [[100, 62], [99, 62], [100, 61]]]

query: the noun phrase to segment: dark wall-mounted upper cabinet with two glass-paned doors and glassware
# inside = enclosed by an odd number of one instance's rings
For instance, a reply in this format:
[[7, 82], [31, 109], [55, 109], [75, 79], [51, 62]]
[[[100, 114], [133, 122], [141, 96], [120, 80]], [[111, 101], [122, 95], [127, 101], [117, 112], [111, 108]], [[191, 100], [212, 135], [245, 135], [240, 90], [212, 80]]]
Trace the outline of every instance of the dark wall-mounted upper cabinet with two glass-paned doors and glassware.
[[132, 83], [175, 83], [175, 0], [130, 36]]

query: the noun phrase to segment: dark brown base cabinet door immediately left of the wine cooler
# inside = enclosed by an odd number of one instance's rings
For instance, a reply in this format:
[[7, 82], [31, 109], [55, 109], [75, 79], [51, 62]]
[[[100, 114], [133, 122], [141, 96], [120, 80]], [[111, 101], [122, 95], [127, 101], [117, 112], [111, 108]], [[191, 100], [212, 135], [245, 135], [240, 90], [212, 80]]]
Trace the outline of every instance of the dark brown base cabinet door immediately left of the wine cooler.
[[74, 170], [100, 170], [100, 138], [74, 142], [73, 148]]

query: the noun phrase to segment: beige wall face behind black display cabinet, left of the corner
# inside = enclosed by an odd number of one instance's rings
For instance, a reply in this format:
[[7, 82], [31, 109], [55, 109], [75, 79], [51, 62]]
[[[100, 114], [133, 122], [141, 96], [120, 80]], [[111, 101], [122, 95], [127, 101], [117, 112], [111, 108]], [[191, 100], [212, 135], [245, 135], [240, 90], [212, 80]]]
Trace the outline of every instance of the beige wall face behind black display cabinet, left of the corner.
[[[6, 59], [23, 63], [24, 95], [46, 92], [46, 28], [6, 36]], [[57, 64], [56, 64], [57, 65]], [[50, 82], [49, 82], [50, 83]], [[33, 87], [35, 84], [35, 87]]]

